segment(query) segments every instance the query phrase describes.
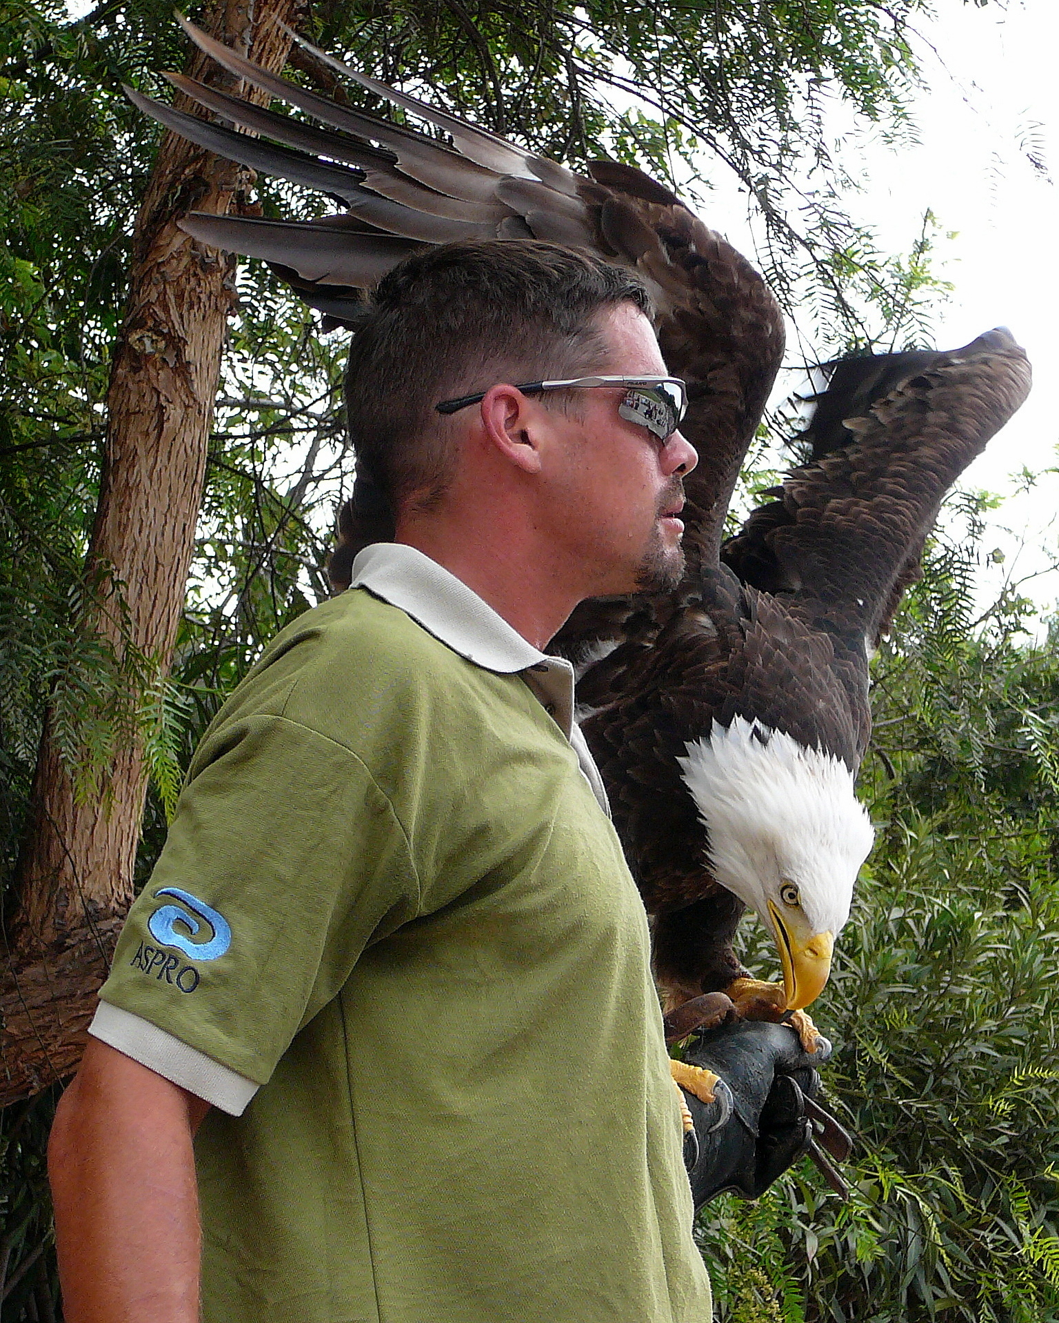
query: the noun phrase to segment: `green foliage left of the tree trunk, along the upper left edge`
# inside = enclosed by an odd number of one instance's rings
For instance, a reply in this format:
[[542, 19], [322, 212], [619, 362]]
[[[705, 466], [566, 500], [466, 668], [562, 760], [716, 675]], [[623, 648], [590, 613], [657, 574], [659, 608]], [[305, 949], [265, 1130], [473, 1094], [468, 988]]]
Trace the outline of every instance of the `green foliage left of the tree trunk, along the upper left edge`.
[[[132, 658], [78, 630], [116, 605], [83, 574], [130, 200], [149, 144], [114, 97], [120, 49], [58, 5], [0, 11], [0, 868], [13, 863], [49, 695], [86, 791], [136, 724]], [[127, 52], [128, 57], [134, 53]], [[77, 70], [71, 75], [71, 70]], [[130, 710], [131, 709], [131, 710]], [[1, 886], [0, 886], [1, 889]]]

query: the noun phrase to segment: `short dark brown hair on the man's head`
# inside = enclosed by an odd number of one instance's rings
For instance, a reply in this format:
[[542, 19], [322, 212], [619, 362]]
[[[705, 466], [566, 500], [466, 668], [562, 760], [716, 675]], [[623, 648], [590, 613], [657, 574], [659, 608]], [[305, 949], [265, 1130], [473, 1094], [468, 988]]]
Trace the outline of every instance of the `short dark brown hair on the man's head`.
[[619, 303], [653, 311], [632, 271], [558, 243], [477, 239], [406, 258], [379, 282], [349, 353], [357, 463], [394, 504], [443, 490], [438, 401], [582, 374], [606, 352], [595, 315]]

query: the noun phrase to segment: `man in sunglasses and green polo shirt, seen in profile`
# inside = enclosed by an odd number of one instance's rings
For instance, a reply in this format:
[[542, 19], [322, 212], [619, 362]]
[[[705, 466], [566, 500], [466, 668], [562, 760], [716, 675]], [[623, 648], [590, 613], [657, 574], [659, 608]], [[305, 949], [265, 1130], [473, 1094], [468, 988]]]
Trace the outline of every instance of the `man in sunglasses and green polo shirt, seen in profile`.
[[[535, 242], [379, 286], [348, 410], [394, 541], [192, 763], [56, 1118], [67, 1323], [192, 1323], [200, 1257], [208, 1323], [709, 1318], [647, 919], [542, 651], [680, 578], [648, 312]], [[759, 1107], [805, 1065], [768, 1028]]]

